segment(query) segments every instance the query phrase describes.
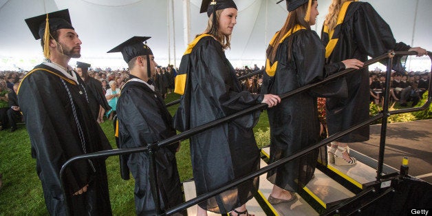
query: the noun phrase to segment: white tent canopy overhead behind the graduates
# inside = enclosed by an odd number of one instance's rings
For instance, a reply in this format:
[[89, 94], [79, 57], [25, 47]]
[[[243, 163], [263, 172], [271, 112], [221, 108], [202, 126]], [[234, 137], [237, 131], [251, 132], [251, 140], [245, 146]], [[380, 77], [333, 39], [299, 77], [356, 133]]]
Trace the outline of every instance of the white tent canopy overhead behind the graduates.
[[[190, 25], [186, 4], [190, 1]], [[231, 49], [226, 52], [235, 67], [263, 65], [265, 50], [274, 32], [285, 21], [285, 3], [277, 0], [235, 0], [239, 8]], [[432, 50], [429, 12], [431, 0], [368, 0], [389, 23], [397, 41]], [[321, 12], [312, 29], [321, 32], [330, 0], [318, 0]], [[31, 69], [43, 54], [24, 19], [45, 12], [69, 9], [72, 25], [83, 41], [79, 61], [94, 67], [127, 67], [120, 53], [107, 54], [131, 36], [152, 36], [149, 46], [160, 65], [179, 65], [186, 42], [206, 27], [199, 14], [201, 0], [0, 0], [0, 70]], [[184, 35], [190, 26], [191, 38]], [[186, 34], [187, 35], [187, 34]], [[76, 59], [70, 61], [74, 65]]]

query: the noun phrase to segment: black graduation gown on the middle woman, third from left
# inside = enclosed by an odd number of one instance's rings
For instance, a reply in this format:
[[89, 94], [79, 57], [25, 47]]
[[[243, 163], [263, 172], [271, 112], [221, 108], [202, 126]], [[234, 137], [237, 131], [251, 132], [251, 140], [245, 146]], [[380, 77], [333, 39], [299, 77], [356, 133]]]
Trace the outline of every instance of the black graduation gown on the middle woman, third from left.
[[[212, 36], [200, 39], [188, 55], [188, 58], [182, 58], [180, 69], [187, 69], [187, 76], [191, 76], [190, 108], [186, 111], [190, 116], [183, 120], [190, 121], [191, 128], [230, 116], [263, 100], [262, 95], [241, 91], [222, 45]], [[259, 111], [191, 136], [197, 195], [214, 191], [259, 169], [259, 149], [252, 131], [258, 118]], [[258, 186], [259, 178], [256, 177], [199, 206], [215, 213], [228, 213], [246, 204]]]

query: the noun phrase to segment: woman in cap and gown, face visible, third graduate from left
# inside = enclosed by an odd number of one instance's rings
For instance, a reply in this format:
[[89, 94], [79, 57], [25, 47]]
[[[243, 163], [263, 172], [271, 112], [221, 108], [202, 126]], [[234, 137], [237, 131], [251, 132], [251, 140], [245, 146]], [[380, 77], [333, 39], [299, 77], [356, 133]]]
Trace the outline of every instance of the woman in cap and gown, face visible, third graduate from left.
[[[272, 107], [280, 101], [279, 96], [241, 91], [235, 70], [224, 53], [230, 47], [230, 35], [236, 24], [234, 1], [219, 0], [211, 4], [203, 1], [201, 12], [207, 12], [210, 17], [208, 26], [188, 45], [179, 74], [175, 77], [175, 92], [183, 94], [186, 91], [181, 97], [181, 105], [186, 106], [177, 109], [175, 114], [175, 128], [180, 131], [230, 116], [259, 103]], [[186, 84], [186, 80], [190, 83]], [[259, 149], [252, 131], [258, 118], [259, 111], [256, 111], [191, 136], [197, 195], [214, 191], [259, 169]], [[206, 215], [206, 210], [215, 213], [233, 210], [232, 215], [247, 215], [246, 202], [257, 192], [258, 183], [256, 177], [199, 203], [197, 215]]]

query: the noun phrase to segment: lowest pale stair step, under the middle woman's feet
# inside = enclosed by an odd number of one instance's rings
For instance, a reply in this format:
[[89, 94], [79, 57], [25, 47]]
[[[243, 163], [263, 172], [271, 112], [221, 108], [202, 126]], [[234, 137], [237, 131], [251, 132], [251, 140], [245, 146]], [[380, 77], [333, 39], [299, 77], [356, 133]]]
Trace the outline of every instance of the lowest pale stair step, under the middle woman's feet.
[[[189, 182], [183, 182], [183, 190], [184, 190], [184, 199], [186, 201], [191, 200], [195, 197], [197, 197], [197, 193], [195, 190], [195, 182], [193, 181], [189, 181]], [[253, 197], [252, 199], [250, 199], [247, 203], [246, 203], [246, 208], [248, 208], [248, 213], [251, 215], [266, 215], [266, 213], [264, 213], [263, 209], [261, 208], [261, 206], [259, 206], [257, 199], [255, 199], [255, 197]], [[197, 215], [197, 205], [189, 207], [187, 209], [188, 212], [188, 216], [195, 216]], [[213, 213], [210, 211], [207, 211], [208, 215], [220, 215], [217, 213]]]

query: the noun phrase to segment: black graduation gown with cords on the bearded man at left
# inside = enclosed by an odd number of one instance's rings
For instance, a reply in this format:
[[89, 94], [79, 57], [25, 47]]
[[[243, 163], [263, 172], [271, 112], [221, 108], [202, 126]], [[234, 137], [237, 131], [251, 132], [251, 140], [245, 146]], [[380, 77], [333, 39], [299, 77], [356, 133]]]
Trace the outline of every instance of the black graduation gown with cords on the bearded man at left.
[[[18, 100], [47, 210], [50, 215], [65, 215], [61, 166], [76, 155], [109, 150], [111, 145], [91, 114], [84, 86], [52, 67], [44, 64], [34, 67], [21, 82]], [[68, 167], [66, 195], [89, 184], [86, 193], [72, 195], [69, 208], [74, 215], [111, 215], [105, 158], [80, 160]]]

